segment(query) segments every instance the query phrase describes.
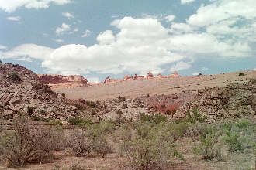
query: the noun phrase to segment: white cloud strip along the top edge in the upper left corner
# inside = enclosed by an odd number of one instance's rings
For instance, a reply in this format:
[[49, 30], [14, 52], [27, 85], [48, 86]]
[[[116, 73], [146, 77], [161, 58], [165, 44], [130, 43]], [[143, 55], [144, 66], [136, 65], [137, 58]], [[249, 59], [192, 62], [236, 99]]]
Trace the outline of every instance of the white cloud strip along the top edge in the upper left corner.
[[65, 5], [71, 3], [71, 0], [1, 0], [0, 9], [5, 12], [14, 12], [17, 8], [48, 8], [51, 3], [55, 5]]

